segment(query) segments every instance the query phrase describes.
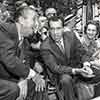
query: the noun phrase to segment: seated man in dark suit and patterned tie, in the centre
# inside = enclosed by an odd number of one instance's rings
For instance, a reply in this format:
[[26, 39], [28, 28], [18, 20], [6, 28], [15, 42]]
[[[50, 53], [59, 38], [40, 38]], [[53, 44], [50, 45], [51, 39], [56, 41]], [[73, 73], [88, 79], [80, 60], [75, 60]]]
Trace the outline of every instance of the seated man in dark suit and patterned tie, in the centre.
[[64, 100], [75, 100], [73, 76], [81, 72], [81, 56], [85, 53], [72, 32], [63, 32], [60, 17], [49, 19], [49, 35], [41, 45], [41, 54], [52, 82], [63, 91]]

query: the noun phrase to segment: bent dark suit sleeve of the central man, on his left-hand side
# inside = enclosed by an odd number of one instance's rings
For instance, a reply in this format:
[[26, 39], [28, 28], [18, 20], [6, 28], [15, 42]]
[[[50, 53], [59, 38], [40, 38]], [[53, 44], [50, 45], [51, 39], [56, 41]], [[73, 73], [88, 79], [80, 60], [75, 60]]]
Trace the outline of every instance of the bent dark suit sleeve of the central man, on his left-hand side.
[[58, 64], [52, 52], [44, 48], [45, 46], [41, 45], [41, 55], [43, 57], [45, 64], [47, 65], [47, 67], [51, 72], [56, 74], [64, 74], [64, 73], [72, 74], [71, 67]]

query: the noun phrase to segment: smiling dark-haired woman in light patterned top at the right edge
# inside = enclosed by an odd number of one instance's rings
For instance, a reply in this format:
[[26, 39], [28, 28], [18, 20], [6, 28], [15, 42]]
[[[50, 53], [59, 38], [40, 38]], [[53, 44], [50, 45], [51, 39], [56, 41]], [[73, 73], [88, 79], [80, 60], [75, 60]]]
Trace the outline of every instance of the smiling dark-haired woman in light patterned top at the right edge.
[[84, 28], [84, 35], [80, 39], [83, 47], [87, 51], [86, 56], [88, 56], [88, 59], [85, 61], [88, 61], [93, 66], [95, 65], [95, 67], [100, 66], [100, 39], [98, 36], [99, 24], [96, 21], [91, 20], [86, 24]]

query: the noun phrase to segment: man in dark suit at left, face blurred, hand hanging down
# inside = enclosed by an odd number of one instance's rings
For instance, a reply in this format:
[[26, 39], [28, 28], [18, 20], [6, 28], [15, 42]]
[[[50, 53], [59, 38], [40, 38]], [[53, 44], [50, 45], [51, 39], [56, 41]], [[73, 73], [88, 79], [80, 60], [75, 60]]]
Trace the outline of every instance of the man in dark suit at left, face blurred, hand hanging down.
[[[20, 41], [33, 33], [36, 18], [37, 13], [33, 9], [23, 7], [16, 12], [15, 23], [0, 24], [0, 100], [16, 100], [20, 92], [25, 98], [27, 80], [30, 79], [31, 92], [35, 92], [34, 87], [39, 91], [45, 87], [43, 76], [25, 65], [20, 55]], [[19, 82], [19, 79], [23, 81]]]

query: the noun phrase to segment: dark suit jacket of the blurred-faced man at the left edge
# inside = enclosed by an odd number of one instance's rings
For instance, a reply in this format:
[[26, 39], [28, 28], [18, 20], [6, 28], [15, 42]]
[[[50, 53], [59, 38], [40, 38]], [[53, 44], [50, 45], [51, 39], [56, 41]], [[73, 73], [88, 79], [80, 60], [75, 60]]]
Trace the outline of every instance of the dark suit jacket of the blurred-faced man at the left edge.
[[26, 78], [29, 67], [18, 58], [18, 33], [15, 24], [0, 25], [0, 78]]

